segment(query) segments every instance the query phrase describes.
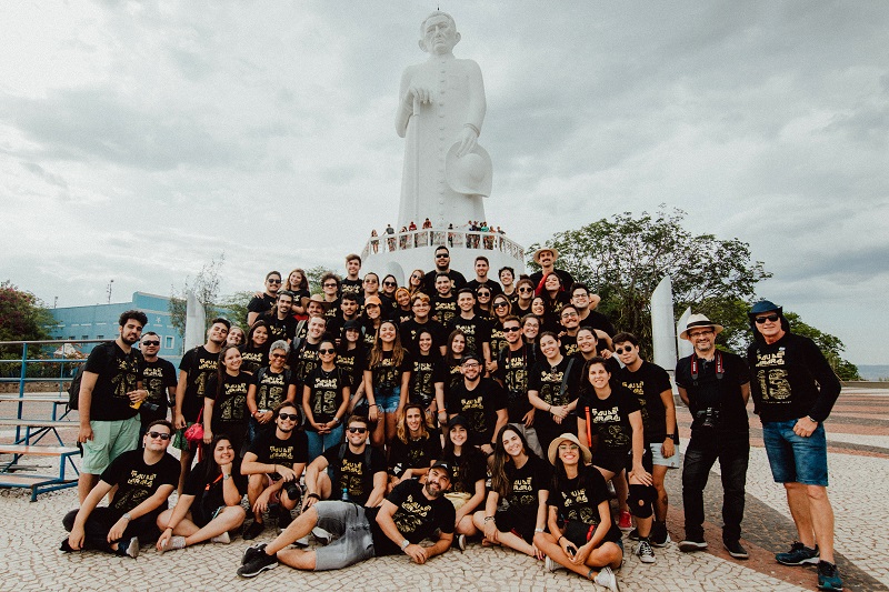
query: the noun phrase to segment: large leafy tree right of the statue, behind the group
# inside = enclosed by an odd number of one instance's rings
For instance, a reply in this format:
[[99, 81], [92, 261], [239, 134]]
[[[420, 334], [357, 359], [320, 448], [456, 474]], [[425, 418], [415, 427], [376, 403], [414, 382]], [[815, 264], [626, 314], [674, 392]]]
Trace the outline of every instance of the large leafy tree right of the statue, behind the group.
[[[647, 354], [651, 351], [651, 293], [665, 275], [672, 282], [677, 318], [689, 305], [695, 312], [711, 312], [729, 329], [721, 342], [737, 350], [747, 330], [746, 315], [719, 312], [750, 301], [757, 282], [771, 273], [761, 261], [752, 260], [746, 242], [693, 234], [682, 227], [685, 217], [682, 210], [665, 205], [638, 218], [625, 212], [558, 232], [546, 244], [558, 249], [557, 265], [597, 292], [602, 298], [599, 310], [618, 329], [635, 333]], [[529, 251], [539, 248], [533, 244]], [[533, 262], [529, 267], [540, 269]]]

